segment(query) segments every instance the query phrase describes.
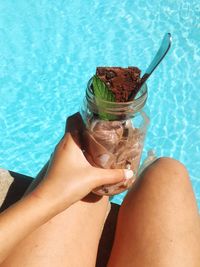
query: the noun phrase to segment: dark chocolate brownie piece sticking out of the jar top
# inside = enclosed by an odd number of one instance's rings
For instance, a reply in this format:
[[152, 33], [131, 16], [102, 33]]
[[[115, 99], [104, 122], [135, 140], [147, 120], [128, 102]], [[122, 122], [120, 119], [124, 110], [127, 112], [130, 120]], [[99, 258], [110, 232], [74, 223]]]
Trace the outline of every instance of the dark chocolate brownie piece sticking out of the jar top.
[[96, 69], [96, 75], [113, 92], [116, 102], [134, 99], [140, 83], [140, 74], [141, 70], [137, 67], [97, 67]]

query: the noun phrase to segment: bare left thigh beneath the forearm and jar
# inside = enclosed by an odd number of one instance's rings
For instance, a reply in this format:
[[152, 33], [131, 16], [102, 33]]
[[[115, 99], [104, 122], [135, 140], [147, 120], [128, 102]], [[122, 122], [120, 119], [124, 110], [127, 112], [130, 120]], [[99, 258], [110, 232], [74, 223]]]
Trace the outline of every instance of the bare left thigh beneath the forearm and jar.
[[75, 203], [24, 239], [1, 267], [94, 267], [108, 203]]

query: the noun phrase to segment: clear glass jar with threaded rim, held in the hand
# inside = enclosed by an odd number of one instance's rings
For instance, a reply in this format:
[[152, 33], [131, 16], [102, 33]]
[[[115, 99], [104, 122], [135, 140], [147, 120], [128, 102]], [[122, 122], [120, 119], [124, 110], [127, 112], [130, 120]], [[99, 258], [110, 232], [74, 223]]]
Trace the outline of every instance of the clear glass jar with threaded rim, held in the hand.
[[123, 182], [103, 185], [93, 192], [115, 195], [127, 190], [135, 180], [140, 164], [149, 118], [144, 111], [147, 85], [136, 99], [129, 102], [109, 102], [96, 98], [89, 80], [81, 109], [85, 123], [82, 133], [88, 161], [105, 169], [131, 169], [134, 177]]

